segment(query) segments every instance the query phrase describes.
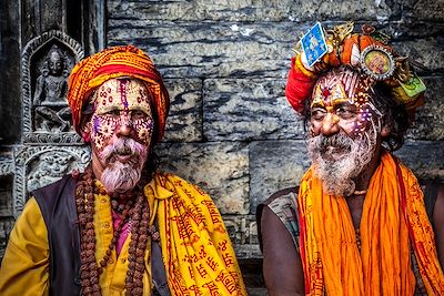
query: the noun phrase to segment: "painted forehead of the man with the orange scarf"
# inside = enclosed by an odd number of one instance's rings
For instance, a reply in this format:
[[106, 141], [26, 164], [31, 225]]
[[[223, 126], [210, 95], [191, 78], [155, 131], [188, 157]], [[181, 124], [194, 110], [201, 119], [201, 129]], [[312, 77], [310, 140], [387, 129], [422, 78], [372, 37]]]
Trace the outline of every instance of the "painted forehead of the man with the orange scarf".
[[321, 76], [312, 93], [313, 105], [350, 102], [357, 108], [371, 103], [371, 80], [350, 69], [341, 69]]

